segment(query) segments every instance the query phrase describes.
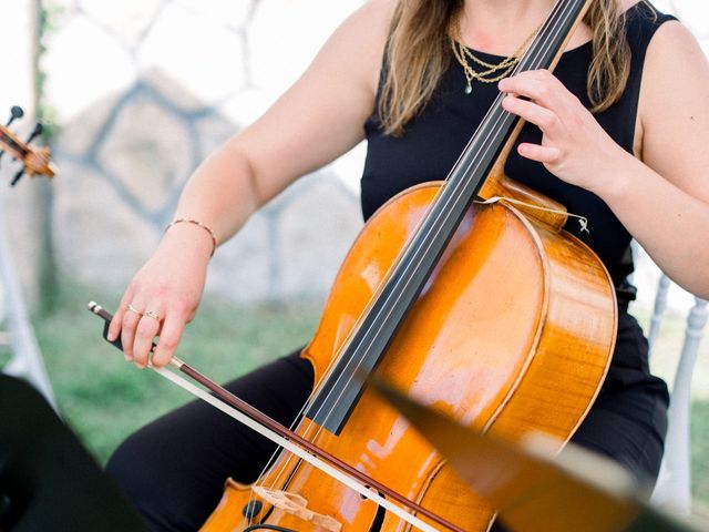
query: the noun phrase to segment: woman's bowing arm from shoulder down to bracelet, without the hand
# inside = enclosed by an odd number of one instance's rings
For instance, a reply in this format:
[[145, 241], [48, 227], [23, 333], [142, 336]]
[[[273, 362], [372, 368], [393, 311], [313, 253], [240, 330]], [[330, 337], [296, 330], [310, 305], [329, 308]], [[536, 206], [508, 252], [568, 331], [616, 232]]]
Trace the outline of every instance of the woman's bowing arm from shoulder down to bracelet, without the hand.
[[296, 178], [359, 143], [374, 104], [388, 9], [372, 2], [345, 21], [302, 76], [197, 168], [176, 216], [204, 219], [224, 242]]

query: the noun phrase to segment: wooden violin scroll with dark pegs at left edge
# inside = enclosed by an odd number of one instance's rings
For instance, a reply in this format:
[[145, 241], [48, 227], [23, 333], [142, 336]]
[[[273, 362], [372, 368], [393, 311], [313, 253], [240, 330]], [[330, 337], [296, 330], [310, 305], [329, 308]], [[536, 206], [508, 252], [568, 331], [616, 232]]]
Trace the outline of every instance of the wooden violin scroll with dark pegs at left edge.
[[22, 163], [22, 168], [14, 175], [10, 182], [11, 186], [14, 186], [24, 174], [33, 177], [35, 175], [45, 175], [47, 177], [53, 177], [56, 173], [56, 166], [52, 163], [50, 157], [49, 147], [30, 147], [30, 143], [39, 135], [42, 134], [44, 127], [39, 122], [32, 130], [32, 133], [22, 142], [9, 126], [17, 119], [21, 119], [24, 115], [22, 108], [17, 105], [10, 109], [10, 119], [6, 125], [0, 124], [0, 158], [8, 152], [12, 158]]

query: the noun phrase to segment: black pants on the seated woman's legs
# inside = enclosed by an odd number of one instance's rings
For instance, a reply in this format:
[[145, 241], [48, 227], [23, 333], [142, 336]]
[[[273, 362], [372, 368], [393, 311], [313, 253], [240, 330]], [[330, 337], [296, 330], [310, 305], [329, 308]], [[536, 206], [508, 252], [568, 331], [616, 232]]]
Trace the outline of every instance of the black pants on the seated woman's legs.
[[[647, 372], [647, 345], [623, 315], [604, 389], [573, 441], [654, 480], [662, 456], [667, 388]], [[284, 424], [312, 389], [312, 369], [292, 354], [226, 388]], [[107, 464], [154, 531], [195, 531], [219, 502], [224, 481], [256, 480], [275, 444], [212, 406], [195, 401], [131, 436]]]

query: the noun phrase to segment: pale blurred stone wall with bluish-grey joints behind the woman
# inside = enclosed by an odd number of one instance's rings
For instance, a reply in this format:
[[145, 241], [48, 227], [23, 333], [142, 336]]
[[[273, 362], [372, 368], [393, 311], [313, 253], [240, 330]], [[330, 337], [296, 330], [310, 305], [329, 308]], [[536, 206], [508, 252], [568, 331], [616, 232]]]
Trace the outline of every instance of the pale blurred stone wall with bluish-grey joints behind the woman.
[[[122, 289], [198, 162], [266, 110], [360, 3], [50, 0], [61, 272]], [[271, 202], [217, 252], [208, 290], [321, 297], [361, 226], [360, 172], [361, 149]]]

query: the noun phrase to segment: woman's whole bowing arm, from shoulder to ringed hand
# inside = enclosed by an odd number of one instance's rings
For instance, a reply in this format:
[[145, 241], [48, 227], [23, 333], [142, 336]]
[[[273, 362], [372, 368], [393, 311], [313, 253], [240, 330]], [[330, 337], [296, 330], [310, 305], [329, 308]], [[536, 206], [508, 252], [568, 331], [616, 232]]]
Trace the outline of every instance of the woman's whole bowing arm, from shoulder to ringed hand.
[[[374, 104], [389, 14], [389, 1], [376, 0], [346, 20], [258, 121], [199, 165], [175, 217], [198, 219], [224, 242], [297, 177], [361, 141]], [[199, 304], [212, 247], [208, 233], [196, 225], [177, 224], [165, 234], [111, 324], [110, 336], [121, 335], [127, 359], [144, 367], [160, 335], [153, 364], [169, 361]], [[160, 319], [141, 316], [147, 310]]]

